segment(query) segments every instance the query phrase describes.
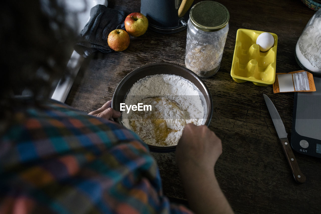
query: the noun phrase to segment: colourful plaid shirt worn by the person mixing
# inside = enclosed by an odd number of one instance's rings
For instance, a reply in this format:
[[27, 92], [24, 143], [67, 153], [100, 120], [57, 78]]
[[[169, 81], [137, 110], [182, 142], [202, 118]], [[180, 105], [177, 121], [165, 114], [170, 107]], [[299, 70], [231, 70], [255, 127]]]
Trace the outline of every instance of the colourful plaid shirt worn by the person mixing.
[[162, 195], [132, 131], [51, 101], [16, 110], [0, 141], [0, 213], [190, 213]]

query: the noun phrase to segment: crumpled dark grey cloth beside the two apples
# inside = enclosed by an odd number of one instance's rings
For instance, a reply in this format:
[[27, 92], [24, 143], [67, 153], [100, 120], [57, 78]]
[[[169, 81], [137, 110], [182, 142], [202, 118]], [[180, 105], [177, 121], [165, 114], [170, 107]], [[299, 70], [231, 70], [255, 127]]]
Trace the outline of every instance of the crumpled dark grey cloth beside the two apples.
[[90, 10], [90, 20], [80, 32], [75, 51], [83, 57], [99, 50], [103, 53], [112, 51], [108, 47], [108, 34], [115, 29], [125, 29], [125, 12], [98, 4]]

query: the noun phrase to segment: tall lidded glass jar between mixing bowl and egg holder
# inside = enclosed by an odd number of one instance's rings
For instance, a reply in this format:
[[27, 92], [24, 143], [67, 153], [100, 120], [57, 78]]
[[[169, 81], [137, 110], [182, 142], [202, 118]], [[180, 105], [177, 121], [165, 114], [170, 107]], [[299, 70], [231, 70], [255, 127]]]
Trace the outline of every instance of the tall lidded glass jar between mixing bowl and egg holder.
[[202, 78], [216, 74], [220, 68], [230, 13], [214, 1], [195, 4], [187, 22], [185, 65]]

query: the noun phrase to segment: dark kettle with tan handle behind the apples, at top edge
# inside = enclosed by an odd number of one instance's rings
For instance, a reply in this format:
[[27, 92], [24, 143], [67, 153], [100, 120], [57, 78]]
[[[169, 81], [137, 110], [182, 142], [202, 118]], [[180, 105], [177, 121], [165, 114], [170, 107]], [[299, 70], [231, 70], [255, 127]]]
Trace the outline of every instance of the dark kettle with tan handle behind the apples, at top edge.
[[149, 22], [149, 28], [160, 33], [175, 33], [187, 27], [194, 0], [141, 0], [141, 13]]

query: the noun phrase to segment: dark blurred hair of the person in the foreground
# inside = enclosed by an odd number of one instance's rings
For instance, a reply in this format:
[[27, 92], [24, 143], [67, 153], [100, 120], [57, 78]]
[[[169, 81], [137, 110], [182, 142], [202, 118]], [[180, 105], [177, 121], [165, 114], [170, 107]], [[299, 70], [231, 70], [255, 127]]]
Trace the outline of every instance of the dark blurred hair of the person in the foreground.
[[[63, 2], [12, 0], [2, 3], [1, 110], [16, 105], [12, 97], [23, 90], [33, 97], [48, 98], [53, 82], [68, 73], [66, 64], [77, 36], [71, 24], [77, 22], [67, 23]], [[3, 116], [0, 115], [0, 119]]]

